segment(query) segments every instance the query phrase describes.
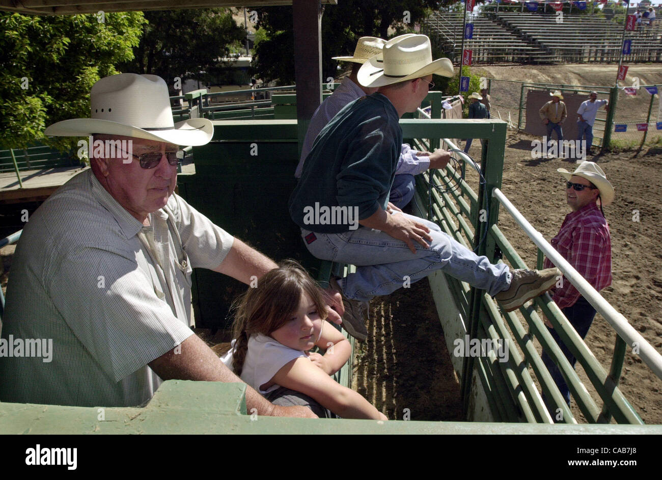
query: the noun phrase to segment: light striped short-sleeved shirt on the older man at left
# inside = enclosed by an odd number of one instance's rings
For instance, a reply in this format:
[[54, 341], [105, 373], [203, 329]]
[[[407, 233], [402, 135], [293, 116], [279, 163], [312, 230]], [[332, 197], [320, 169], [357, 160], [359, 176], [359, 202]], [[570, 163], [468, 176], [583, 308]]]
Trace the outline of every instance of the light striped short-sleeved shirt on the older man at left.
[[[7, 289], [1, 401], [128, 407], [152, 398], [161, 379], [147, 364], [193, 334], [191, 269], [218, 267], [234, 238], [178, 195], [149, 219], [143, 226], [91, 170], [30, 216]], [[28, 339], [52, 350], [28, 356]]]

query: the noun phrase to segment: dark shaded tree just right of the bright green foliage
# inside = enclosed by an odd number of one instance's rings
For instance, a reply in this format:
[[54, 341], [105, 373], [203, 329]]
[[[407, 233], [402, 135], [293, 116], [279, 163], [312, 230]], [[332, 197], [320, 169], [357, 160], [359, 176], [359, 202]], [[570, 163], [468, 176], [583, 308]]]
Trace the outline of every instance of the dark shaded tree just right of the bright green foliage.
[[134, 58], [120, 68], [159, 75], [169, 85], [174, 77], [203, 80], [215, 73], [222, 67], [219, 59], [246, 36], [228, 9], [149, 11], [144, 17], [148, 23]]

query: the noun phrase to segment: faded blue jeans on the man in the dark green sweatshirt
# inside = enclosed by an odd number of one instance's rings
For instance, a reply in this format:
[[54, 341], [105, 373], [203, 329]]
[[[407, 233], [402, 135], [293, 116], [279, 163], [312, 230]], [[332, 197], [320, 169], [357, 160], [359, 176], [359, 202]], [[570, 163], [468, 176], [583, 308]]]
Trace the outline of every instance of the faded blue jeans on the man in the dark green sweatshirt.
[[430, 228], [429, 248], [416, 244], [414, 254], [401, 240], [365, 226], [338, 234], [316, 232], [308, 240], [310, 230], [301, 229], [308, 251], [316, 258], [356, 265], [356, 272], [339, 282], [346, 297], [369, 301], [376, 295], [389, 295], [438, 269], [490, 295], [510, 287], [507, 265], [493, 265], [487, 257], [477, 256], [435, 223], [406, 213], [391, 215], [404, 215]]

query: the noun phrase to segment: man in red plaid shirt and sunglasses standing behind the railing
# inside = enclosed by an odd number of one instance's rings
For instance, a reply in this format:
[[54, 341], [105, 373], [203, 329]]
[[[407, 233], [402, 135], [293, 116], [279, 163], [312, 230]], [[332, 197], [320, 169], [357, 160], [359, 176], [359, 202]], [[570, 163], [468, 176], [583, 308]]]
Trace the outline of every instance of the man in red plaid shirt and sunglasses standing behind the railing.
[[[612, 283], [611, 237], [602, 205], [610, 205], [614, 201], [614, 187], [604, 175], [604, 171], [594, 162], [582, 162], [573, 172], [564, 168], [559, 168], [558, 171], [565, 177], [565, 197], [572, 212], [565, 216], [561, 230], [551, 239], [551, 245], [594, 289], [600, 291]], [[545, 259], [545, 267], [553, 267], [553, 264]], [[592, 305], [565, 277], [561, 287], [556, 288], [551, 297], [579, 336], [585, 338], [595, 316]], [[549, 320], [545, 319], [545, 324], [561, 346], [563, 354], [574, 366], [574, 356], [551, 328]], [[561, 371], [546, 352], [542, 358], [569, 404], [570, 391]]]

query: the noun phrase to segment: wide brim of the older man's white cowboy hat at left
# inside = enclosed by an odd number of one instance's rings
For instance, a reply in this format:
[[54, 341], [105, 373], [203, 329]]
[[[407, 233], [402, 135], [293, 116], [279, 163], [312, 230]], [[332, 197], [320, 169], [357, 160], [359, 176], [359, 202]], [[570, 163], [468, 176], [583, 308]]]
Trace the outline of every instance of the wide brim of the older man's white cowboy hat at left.
[[209, 119], [189, 119], [177, 122], [167, 130], [145, 130], [111, 120], [70, 119], [54, 123], [44, 130], [48, 136], [89, 136], [95, 133], [144, 138], [181, 146], [201, 146], [209, 143], [214, 136], [214, 125]]

